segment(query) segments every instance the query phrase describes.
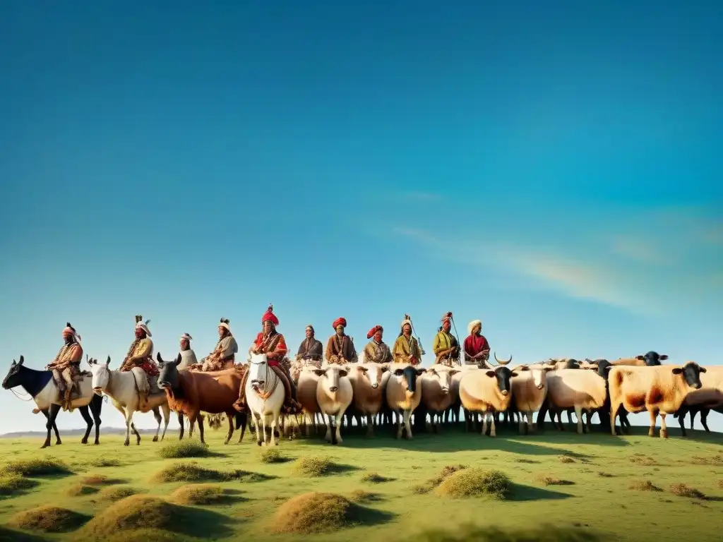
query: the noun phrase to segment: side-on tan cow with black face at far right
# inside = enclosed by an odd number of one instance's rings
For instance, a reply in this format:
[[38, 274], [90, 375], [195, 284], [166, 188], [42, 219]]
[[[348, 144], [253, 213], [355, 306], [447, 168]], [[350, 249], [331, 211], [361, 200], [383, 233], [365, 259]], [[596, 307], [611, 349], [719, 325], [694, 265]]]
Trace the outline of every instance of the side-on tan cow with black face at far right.
[[[660, 436], [668, 438], [665, 416], [675, 414], [692, 390], [701, 389], [701, 373], [704, 367], [695, 361], [683, 366], [660, 365], [653, 367], [610, 366], [608, 368], [610, 390], [610, 431], [615, 436], [615, 417], [620, 405], [630, 413], [648, 410], [650, 413], [649, 436], [655, 435], [655, 424], [660, 414]], [[588, 373], [589, 371], [583, 371]]]

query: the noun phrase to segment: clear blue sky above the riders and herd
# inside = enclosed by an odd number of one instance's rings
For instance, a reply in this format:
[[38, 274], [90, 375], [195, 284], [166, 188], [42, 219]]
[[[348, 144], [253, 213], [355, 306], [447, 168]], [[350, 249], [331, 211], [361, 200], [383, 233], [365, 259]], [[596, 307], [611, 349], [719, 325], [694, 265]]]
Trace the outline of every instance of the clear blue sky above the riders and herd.
[[719, 363], [719, 3], [230, 4], [0, 5], [5, 364], [69, 320], [115, 365], [134, 314], [244, 348], [270, 302], [292, 348], [451, 310], [521, 362]]

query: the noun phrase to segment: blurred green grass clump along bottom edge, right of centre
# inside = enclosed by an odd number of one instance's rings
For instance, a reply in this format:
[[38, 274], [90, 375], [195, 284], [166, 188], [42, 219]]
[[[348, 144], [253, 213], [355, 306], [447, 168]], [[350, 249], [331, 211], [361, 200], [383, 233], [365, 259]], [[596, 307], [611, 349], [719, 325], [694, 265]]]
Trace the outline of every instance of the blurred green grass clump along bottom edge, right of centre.
[[423, 530], [408, 542], [599, 542], [602, 535], [589, 530], [557, 525], [524, 529], [500, 529], [487, 525], [461, 525], [456, 530]]

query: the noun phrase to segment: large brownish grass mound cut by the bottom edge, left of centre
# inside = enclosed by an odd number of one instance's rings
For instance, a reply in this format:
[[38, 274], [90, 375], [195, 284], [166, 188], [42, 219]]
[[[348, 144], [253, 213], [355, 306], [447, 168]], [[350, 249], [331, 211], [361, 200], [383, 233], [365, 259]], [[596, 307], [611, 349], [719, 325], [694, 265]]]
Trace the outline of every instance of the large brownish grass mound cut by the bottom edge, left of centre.
[[79, 539], [106, 538], [119, 531], [136, 529], [175, 530], [184, 509], [155, 497], [134, 495], [122, 499], [87, 522]]

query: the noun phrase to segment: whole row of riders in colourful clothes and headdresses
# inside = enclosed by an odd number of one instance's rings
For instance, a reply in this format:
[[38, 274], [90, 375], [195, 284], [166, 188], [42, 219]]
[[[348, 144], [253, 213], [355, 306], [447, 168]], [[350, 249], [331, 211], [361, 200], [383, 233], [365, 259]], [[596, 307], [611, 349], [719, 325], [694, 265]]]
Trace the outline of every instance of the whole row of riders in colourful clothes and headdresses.
[[[469, 322], [469, 335], [460, 345], [458, 338], [452, 334], [453, 316], [451, 312], [445, 313], [437, 335], [432, 343], [432, 350], [435, 353], [435, 363], [447, 366], [460, 365], [463, 355], [464, 364], [480, 365], [489, 358], [489, 343], [482, 335], [482, 322], [473, 320]], [[135, 317], [135, 337], [128, 352], [121, 364], [121, 371], [133, 371], [136, 368], [142, 369], [147, 378], [137, 378], [140, 405], [147, 404], [150, 393], [160, 392], [158, 389], [158, 364], [153, 359], [153, 340], [148, 327], [150, 320], [143, 320], [142, 316]], [[254, 342], [249, 348], [249, 354], [265, 354], [268, 366], [278, 374], [286, 388], [286, 403], [283, 410], [286, 413], [298, 412], [299, 403], [296, 402], [296, 389], [292, 384], [291, 364], [288, 357], [286, 339], [278, 332], [278, 317], [273, 313], [273, 305], [266, 309], [261, 317], [262, 330], [256, 335]], [[320, 368], [325, 359], [329, 364], [356, 363], [359, 357], [354, 347], [354, 340], [346, 335], [346, 318], [340, 317], [332, 324], [335, 333], [329, 337], [326, 350], [322, 343], [315, 337], [314, 327], [309, 324], [306, 327], [306, 337], [301, 341], [299, 350], [296, 352], [296, 361], [303, 365]], [[369, 343], [364, 346], [364, 360], [369, 362], [401, 363], [418, 365], [422, 360], [424, 350], [419, 338], [414, 336], [414, 325], [408, 314], [404, 315], [401, 322], [399, 335], [390, 348], [383, 340], [384, 328], [375, 325], [367, 333]], [[80, 342], [80, 335], [68, 322], [63, 330], [64, 344], [47, 369], [53, 372], [54, 380], [61, 391], [63, 398], [63, 409], [68, 410], [74, 395], [80, 396], [79, 382], [87, 373], [82, 373], [80, 363], [82, 361], [83, 349]], [[239, 390], [239, 399], [236, 400], [234, 408], [239, 412], [247, 411], [244, 397], [244, 387], [248, 371], [244, 365], [236, 364], [236, 353], [239, 345], [231, 333], [230, 321], [221, 318], [218, 324], [218, 342], [213, 351], [201, 361], [197, 361], [196, 354], [191, 348], [193, 337], [188, 333], [181, 335], [180, 340], [180, 363], [179, 370], [192, 371], [223, 371], [225, 369], [238, 369], [244, 371], [244, 379]], [[140, 371], [134, 371], [139, 374]]]

